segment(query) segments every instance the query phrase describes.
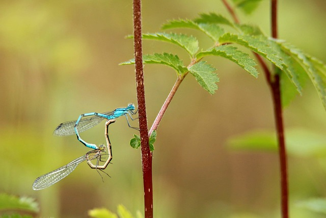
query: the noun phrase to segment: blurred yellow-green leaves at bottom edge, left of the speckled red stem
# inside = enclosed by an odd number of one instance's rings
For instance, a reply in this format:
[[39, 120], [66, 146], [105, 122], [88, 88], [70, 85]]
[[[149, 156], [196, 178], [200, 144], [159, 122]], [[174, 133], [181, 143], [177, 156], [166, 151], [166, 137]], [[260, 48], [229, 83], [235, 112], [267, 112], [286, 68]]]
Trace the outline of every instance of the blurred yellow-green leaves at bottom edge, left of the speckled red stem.
[[[94, 218], [133, 218], [134, 216], [123, 205], [118, 205], [118, 215], [105, 208], [95, 208], [88, 211], [88, 215]], [[135, 218], [144, 218], [144, 215], [137, 211]]]

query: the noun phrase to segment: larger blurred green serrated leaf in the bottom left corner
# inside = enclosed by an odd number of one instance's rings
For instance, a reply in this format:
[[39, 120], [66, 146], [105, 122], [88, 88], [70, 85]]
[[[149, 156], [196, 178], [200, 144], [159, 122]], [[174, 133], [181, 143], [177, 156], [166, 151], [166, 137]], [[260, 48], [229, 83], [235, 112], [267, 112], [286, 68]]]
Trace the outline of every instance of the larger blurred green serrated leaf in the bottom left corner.
[[35, 202], [34, 198], [11, 196], [7, 195], [6, 193], [0, 194], [0, 210], [17, 209], [38, 212], [39, 205], [37, 202]]

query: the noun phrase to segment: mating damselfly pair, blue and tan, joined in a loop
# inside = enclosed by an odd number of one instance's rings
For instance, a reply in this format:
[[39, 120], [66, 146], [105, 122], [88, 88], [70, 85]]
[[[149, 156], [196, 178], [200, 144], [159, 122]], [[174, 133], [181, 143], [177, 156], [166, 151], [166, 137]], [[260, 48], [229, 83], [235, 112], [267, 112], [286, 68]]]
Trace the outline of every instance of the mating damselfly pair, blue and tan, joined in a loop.
[[[118, 108], [111, 112], [81, 114], [77, 120], [60, 124], [53, 132], [53, 135], [68, 136], [68, 135], [76, 134], [77, 139], [80, 142], [82, 142], [86, 147], [92, 148], [94, 150], [87, 152], [84, 156], [74, 159], [67, 165], [62, 166], [56, 169], [55, 171], [52, 171], [50, 173], [38, 177], [33, 183], [33, 189], [34, 190], [44, 189], [59, 182], [60, 180], [68, 176], [72, 171], [74, 171], [74, 169], [77, 167], [79, 163], [82, 163], [84, 161], [87, 161], [88, 165], [91, 168], [100, 171], [102, 171], [102, 169], [105, 169], [106, 166], [112, 160], [111, 142], [110, 142], [110, 138], [108, 137], [108, 125], [114, 123], [116, 121], [115, 118], [118, 118], [120, 116], [125, 116], [127, 119], [128, 126], [133, 129], [138, 129], [130, 126], [127, 117], [127, 115], [129, 114], [132, 120], [135, 119], [132, 118], [132, 115], [137, 113], [137, 111], [134, 111], [134, 109], [135, 109], [134, 105], [129, 104], [126, 108]], [[79, 132], [86, 131], [96, 126], [103, 119], [107, 119], [105, 123], [106, 147], [103, 144], [97, 147], [95, 144], [87, 143], [82, 138], [80, 138]], [[102, 160], [103, 157], [105, 157], [106, 155], [107, 155], [107, 159], [106, 161], [104, 161], [105, 163], [103, 165], [99, 165], [99, 163], [103, 161]], [[96, 164], [92, 163], [92, 161], [94, 160], [96, 161]]]

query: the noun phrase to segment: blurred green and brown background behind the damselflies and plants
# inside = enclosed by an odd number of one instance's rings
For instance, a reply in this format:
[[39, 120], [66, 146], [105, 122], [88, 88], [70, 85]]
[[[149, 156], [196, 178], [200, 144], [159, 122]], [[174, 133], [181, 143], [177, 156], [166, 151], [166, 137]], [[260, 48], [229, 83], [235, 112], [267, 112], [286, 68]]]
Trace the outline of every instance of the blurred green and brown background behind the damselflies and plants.
[[[326, 60], [323, 0], [279, 3], [279, 36]], [[166, 20], [216, 12], [220, 1], [143, 1], [143, 32], [159, 32]], [[269, 34], [269, 1], [242, 22]], [[196, 32], [190, 32], [197, 34]], [[110, 0], [1, 1], [0, 4], [0, 192], [35, 197], [42, 217], [87, 217], [94, 207], [118, 204], [143, 212], [140, 150], [131, 149], [134, 130], [124, 118], [110, 126], [113, 164], [102, 182], [86, 163], [50, 188], [34, 191], [34, 180], [89, 149], [75, 136], [53, 137], [58, 124], [86, 112], [137, 103], [133, 66], [132, 2]], [[196, 35], [202, 47], [210, 41]], [[186, 54], [176, 46], [144, 41], [144, 53]], [[153, 155], [155, 217], [280, 217], [279, 163], [273, 152], [231, 150], [227, 139], [255, 129], [274, 129], [273, 107], [263, 74], [258, 79], [237, 65], [210, 58], [219, 90], [210, 95], [186, 77], [158, 128]], [[259, 69], [260, 70], [260, 69]], [[261, 70], [260, 70], [261, 72]], [[165, 66], [145, 66], [151, 126], [176, 80]], [[325, 133], [326, 114], [311, 83], [285, 109], [286, 128]], [[134, 125], [133, 125], [134, 126]], [[105, 143], [104, 122], [82, 133]], [[326, 142], [325, 142], [326, 144]], [[297, 207], [326, 195], [325, 159], [289, 157], [292, 217], [322, 217]], [[256, 215], [254, 215], [256, 214]]]

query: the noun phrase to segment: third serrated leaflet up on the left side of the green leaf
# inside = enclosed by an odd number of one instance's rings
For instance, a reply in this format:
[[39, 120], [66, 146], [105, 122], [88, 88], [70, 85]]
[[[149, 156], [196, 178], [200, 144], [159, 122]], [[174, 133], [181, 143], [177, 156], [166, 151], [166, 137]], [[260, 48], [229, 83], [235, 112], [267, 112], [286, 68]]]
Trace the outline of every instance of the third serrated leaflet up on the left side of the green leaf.
[[196, 23], [192, 20], [172, 20], [162, 26], [162, 29], [173, 28], [189, 28], [200, 30], [205, 33], [214, 42], [218, 42], [219, 38], [224, 34], [224, 30], [216, 25], [216, 23]]

